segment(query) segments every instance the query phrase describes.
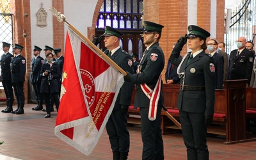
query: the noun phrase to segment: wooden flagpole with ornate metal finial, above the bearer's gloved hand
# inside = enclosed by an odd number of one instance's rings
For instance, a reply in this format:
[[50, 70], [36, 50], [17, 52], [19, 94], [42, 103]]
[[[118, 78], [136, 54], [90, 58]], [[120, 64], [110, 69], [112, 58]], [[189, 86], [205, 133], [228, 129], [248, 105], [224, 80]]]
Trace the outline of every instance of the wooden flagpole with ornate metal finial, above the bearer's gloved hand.
[[126, 76], [126, 72], [119, 67], [113, 60], [111, 60], [104, 52], [102, 52], [96, 45], [94, 45], [88, 38], [86, 38], [80, 31], [78, 31], [72, 24], [67, 22], [65, 15], [58, 12], [55, 8], [49, 7], [49, 10], [52, 12], [54, 17], [57, 17], [59, 22], [65, 22], [68, 28], [72, 29], [78, 36], [80, 36], [90, 47], [92, 47], [95, 51], [99, 52], [100, 56], [104, 58], [104, 60], [108, 61], [113, 67], [115, 67], [122, 75]]

